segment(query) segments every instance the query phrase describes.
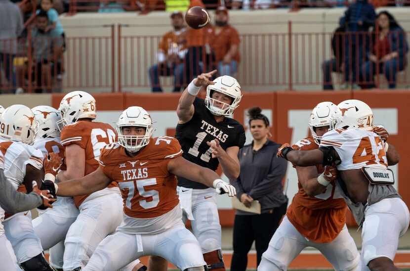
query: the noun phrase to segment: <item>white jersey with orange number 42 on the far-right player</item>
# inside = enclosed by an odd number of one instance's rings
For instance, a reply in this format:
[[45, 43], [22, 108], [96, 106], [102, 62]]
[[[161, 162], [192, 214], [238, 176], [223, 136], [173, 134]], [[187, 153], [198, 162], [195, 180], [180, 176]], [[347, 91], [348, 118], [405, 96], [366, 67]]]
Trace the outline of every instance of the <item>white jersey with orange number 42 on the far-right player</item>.
[[320, 147], [332, 146], [340, 156], [338, 170], [387, 168], [386, 151], [380, 136], [360, 129], [335, 129], [322, 136]]

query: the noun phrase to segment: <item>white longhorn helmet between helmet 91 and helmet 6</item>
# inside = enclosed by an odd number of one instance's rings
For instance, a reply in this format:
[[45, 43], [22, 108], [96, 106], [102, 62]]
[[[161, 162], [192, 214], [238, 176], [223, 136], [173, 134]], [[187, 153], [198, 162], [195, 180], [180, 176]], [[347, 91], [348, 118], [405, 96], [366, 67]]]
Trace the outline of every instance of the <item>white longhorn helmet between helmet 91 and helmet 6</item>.
[[31, 109], [36, 120], [39, 122], [39, 130], [36, 140], [48, 137], [59, 137], [60, 129], [57, 127], [57, 122], [61, 120], [60, 112], [47, 105], [39, 105]]

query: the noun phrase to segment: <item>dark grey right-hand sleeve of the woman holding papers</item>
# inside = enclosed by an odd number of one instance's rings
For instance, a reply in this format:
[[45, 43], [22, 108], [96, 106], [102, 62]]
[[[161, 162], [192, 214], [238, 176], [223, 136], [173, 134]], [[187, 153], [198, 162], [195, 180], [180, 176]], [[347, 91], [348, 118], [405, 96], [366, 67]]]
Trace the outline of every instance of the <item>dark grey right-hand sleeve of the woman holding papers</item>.
[[286, 174], [287, 161], [276, 157], [276, 151], [272, 154], [272, 161], [268, 175], [257, 185], [252, 187], [248, 193], [253, 199], [258, 199], [261, 196], [272, 192], [273, 187], [278, 183], [282, 183]]

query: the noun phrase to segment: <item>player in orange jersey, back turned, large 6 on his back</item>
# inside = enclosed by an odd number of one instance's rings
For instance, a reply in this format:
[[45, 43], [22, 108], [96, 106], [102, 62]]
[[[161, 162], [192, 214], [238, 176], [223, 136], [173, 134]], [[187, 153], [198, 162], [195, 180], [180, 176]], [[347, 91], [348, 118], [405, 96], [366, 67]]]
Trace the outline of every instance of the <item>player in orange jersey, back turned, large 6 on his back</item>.
[[[67, 170], [58, 173], [59, 181], [80, 179], [96, 169], [101, 149], [117, 140], [111, 125], [94, 122], [96, 104], [84, 91], [72, 91], [61, 100], [61, 144], [65, 148]], [[60, 125], [61, 124], [61, 125]], [[74, 197], [80, 214], [70, 226], [64, 242], [64, 271], [81, 270], [97, 245], [123, 221], [122, 198], [116, 183], [93, 193]]]

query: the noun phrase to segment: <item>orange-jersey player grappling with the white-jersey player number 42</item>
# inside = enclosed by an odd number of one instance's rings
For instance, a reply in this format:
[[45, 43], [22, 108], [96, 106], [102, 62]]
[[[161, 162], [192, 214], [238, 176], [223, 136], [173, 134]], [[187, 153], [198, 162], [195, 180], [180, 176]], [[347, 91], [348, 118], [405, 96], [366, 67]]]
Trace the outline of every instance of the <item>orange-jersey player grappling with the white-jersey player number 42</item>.
[[[328, 132], [330, 118], [338, 109], [332, 102], [321, 102], [312, 110], [309, 128], [312, 136], [299, 140], [295, 150], [319, 148], [322, 135]], [[335, 270], [356, 270], [360, 255], [346, 227], [346, 203], [334, 180], [325, 186], [317, 181], [324, 172], [322, 164], [295, 167], [299, 191], [287, 209], [286, 217], [262, 255], [258, 271], [287, 270], [305, 247], [318, 249]], [[334, 169], [328, 168], [327, 175]], [[336, 174], [333, 175], [334, 177]]]

